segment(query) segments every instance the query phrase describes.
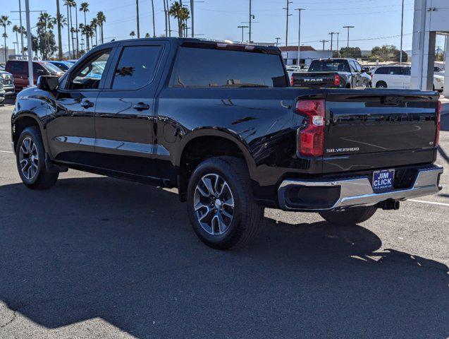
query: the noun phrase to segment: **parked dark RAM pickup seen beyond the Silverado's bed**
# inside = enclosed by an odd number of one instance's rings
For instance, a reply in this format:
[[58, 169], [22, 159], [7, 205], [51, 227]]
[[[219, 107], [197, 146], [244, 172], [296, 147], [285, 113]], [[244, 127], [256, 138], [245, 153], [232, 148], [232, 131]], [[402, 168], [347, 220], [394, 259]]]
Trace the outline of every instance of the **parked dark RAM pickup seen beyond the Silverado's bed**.
[[293, 73], [290, 83], [305, 88], [367, 88], [371, 77], [354, 59], [316, 59], [307, 72]]

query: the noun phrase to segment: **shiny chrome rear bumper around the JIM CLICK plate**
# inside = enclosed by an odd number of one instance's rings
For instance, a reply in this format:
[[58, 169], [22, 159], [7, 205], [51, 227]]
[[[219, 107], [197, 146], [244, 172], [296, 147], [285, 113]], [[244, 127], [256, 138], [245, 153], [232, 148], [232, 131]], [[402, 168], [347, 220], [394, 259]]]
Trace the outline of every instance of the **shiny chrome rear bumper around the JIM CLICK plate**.
[[[278, 203], [283, 210], [333, 210], [350, 206], [371, 206], [388, 199], [406, 200], [418, 196], [435, 194], [442, 189], [439, 186], [439, 178], [443, 173], [443, 167], [433, 165], [425, 169], [419, 169], [414, 184], [410, 189], [398, 189], [386, 193], [374, 193], [371, 183], [367, 177], [341, 179], [336, 181], [313, 181], [313, 180], [284, 180], [278, 189]], [[292, 187], [316, 187], [331, 188], [340, 187], [340, 196], [327, 208], [295, 208], [289, 206], [285, 193]]]

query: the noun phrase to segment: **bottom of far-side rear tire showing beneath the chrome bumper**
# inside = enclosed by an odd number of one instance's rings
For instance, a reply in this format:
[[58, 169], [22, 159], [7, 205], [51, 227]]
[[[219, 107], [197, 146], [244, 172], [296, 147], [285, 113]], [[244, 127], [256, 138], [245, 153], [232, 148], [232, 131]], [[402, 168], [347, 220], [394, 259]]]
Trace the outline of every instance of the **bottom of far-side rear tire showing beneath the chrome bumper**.
[[348, 208], [347, 210], [331, 210], [320, 212], [324, 220], [338, 226], [352, 226], [367, 221], [376, 213], [376, 206]]

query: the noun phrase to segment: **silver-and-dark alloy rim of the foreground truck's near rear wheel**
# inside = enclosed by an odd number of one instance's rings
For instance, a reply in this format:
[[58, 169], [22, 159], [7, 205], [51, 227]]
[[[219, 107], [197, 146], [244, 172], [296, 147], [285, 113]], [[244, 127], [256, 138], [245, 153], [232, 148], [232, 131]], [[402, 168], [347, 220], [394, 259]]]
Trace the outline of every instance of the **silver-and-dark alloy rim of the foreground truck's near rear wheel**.
[[195, 188], [194, 208], [205, 232], [224, 234], [234, 215], [234, 197], [226, 180], [218, 174], [204, 175]]

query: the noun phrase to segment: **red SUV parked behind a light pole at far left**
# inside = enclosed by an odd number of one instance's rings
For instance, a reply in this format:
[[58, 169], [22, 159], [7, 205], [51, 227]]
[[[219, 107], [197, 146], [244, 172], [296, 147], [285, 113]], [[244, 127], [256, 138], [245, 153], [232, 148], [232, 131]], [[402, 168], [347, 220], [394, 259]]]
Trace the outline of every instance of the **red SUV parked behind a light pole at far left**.
[[[8, 60], [6, 61], [6, 71], [13, 75], [16, 93], [27, 87], [28, 80], [28, 61], [26, 60]], [[47, 61], [32, 61], [33, 80], [37, 84], [39, 76], [62, 76], [63, 71]]]

